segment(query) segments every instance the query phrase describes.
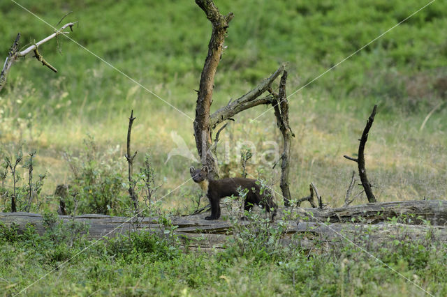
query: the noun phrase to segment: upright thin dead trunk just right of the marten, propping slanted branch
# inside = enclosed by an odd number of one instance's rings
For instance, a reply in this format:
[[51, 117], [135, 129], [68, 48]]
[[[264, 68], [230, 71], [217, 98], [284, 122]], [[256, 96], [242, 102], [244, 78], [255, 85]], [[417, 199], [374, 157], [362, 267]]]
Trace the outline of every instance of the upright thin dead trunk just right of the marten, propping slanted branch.
[[[283, 138], [283, 152], [281, 155], [281, 181], [279, 187], [281, 188], [282, 196], [284, 198], [284, 206], [291, 205], [291, 191], [288, 188], [288, 173], [290, 172], [291, 162], [291, 138], [295, 137], [290, 125], [288, 124], [288, 101], [286, 95], [287, 71], [284, 70], [279, 82], [279, 93], [273, 93], [274, 116], [277, 118], [277, 125], [281, 130]], [[272, 91], [270, 91], [272, 93]]]

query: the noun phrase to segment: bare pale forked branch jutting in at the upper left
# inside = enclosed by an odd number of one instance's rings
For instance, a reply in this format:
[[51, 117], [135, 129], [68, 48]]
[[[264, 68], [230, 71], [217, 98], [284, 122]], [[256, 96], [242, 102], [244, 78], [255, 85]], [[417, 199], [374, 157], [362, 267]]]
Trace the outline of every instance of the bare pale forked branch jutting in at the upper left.
[[6, 78], [8, 77], [8, 73], [10, 68], [13, 66], [15, 61], [19, 59], [22, 56], [26, 56], [30, 52], [34, 52], [34, 56], [38, 61], [42, 62], [43, 66], [47, 66], [51, 70], [53, 70], [55, 73], [57, 73], [57, 69], [50, 65], [45, 59], [43, 59], [43, 56], [38, 52], [38, 47], [40, 45], [43, 45], [43, 43], [46, 43], [48, 40], [52, 40], [52, 38], [55, 38], [62, 34], [68, 34], [69, 32], [64, 31], [66, 28], [70, 28], [71, 31], [73, 31], [73, 26], [76, 24], [76, 22], [69, 22], [67, 24], [64, 24], [64, 26], [61, 26], [61, 29], [58, 29], [54, 31], [50, 36], [47, 36], [43, 40], [39, 41], [38, 43], [34, 43], [34, 45], [31, 45], [27, 47], [26, 49], [19, 51], [19, 45], [20, 45], [20, 33], [17, 33], [17, 37], [14, 40], [13, 45], [10, 47], [10, 50], [8, 52], [8, 56], [6, 57], [6, 61], [3, 64], [3, 68], [0, 73], [0, 91], [3, 89], [3, 86], [6, 84]]

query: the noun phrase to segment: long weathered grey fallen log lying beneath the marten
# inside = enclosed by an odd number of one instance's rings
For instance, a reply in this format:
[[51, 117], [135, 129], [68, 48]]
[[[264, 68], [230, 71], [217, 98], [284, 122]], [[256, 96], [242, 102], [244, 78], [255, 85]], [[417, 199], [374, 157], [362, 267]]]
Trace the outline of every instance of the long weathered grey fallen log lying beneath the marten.
[[[311, 213], [312, 212], [312, 213]], [[205, 213], [175, 216], [171, 218], [174, 233], [183, 241], [184, 246], [204, 251], [219, 250], [226, 247], [233, 236], [234, 222], [228, 220], [228, 212], [223, 212], [221, 220], [204, 220]], [[447, 201], [395, 201], [377, 204], [365, 204], [344, 208], [297, 208], [291, 214], [284, 215], [279, 210], [277, 222], [286, 222], [283, 245], [298, 245], [313, 249], [316, 245], [329, 248], [352, 241], [360, 243], [368, 240], [374, 245], [399, 241], [430, 240], [447, 243]], [[127, 234], [129, 231], [153, 231], [164, 234], [165, 227], [159, 218], [123, 218], [109, 215], [59, 215], [64, 224], [84, 222], [88, 231], [87, 238], [98, 239]], [[399, 218], [403, 218], [402, 224]], [[430, 221], [428, 224], [420, 224]], [[38, 234], [45, 233], [45, 219], [36, 213], [0, 213], [0, 223], [10, 226], [15, 224], [19, 231], [24, 231], [28, 224], [34, 226]], [[355, 221], [355, 222], [352, 222]], [[349, 223], [351, 222], [351, 223]], [[249, 225], [249, 221], [237, 224]], [[360, 241], [360, 242], [359, 242]]]

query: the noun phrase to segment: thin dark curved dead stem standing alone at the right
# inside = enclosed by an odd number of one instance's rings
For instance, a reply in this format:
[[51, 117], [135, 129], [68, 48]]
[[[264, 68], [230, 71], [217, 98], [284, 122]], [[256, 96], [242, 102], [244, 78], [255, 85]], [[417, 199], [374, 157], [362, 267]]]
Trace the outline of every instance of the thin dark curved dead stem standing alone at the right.
[[360, 176], [360, 181], [362, 182], [362, 186], [365, 189], [366, 197], [369, 203], [375, 203], [376, 197], [372, 194], [371, 183], [369, 183], [366, 169], [365, 169], [365, 144], [368, 140], [369, 129], [371, 129], [372, 123], [374, 122], [374, 116], [376, 116], [377, 105], [374, 105], [374, 109], [372, 109], [372, 113], [369, 116], [365, 130], [363, 130], [362, 138], [360, 138], [360, 144], [358, 145], [358, 158], [351, 158], [348, 155], [344, 155], [344, 158], [357, 162], [358, 164], [358, 175]]

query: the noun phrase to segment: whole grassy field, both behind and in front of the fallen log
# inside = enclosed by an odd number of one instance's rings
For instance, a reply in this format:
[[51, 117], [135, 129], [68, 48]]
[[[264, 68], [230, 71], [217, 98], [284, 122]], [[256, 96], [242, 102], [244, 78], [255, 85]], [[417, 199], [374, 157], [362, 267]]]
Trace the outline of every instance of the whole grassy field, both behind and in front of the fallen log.
[[[231, 98], [242, 96], [281, 63], [288, 62], [288, 94], [300, 90], [289, 98], [291, 128], [295, 133], [291, 164], [291, 194], [294, 198], [307, 196], [309, 183], [314, 182], [329, 206], [343, 204], [351, 172], [356, 169], [356, 165], [343, 155], [355, 155], [357, 139], [372, 107], [377, 104], [379, 112], [369, 133], [365, 156], [376, 198], [379, 201], [446, 199], [447, 41], [444, 32], [447, 3], [434, 1], [343, 61], [428, 2], [217, 0], [221, 13], [231, 11], [235, 17], [230, 22], [225, 44], [228, 48], [217, 71], [212, 111]], [[78, 213], [97, 209], [89, 202], [101, 197], [101, 201], [105, 201], [103, 206], [113, 200], [112, 208], [107, 208], [106, 213], [126, 214], [129, 198], [126, 196], [124, 153], [128, 117], [133, 109], [136, 120], [132, 141], [133, 149], [138, 150], [135, 172], [139, 172], [145, 154], [149, 154], [156, 173], [154, 183], [161, 185], [156, 192], [156, 198], [162, 199], [161, 208], [188, 213], [193, 199], [198, 196], [198, 187], [189, 181], [170, 192], [189, 178], [189, 167], [198, 164], [178, 155], [167, 159], [170, 151], [177, 147], [175, 139], [179, 137], [196, 155], [193, 123], [189, 118], [193, 119], [195, 115], [197, 98], [194, 90], [198, 89], [211, 33], [210, 22], [203, 11], [194, 1], [20, 0], [17, 3], [55, 27], [61, 17], [71, 11], [73, 13], [61, 24], [79, 21], [69, 35], [79, 45], [60, 37], [40, 48], [41, 54], [59, 73], [52, 73], [27, 56], [13, 66], [8, 83], [0, 93], [0, 160], [14, 158], [21, 144], [25, 160], [29, 151], [37, 151], [35, 180], [38, 174], [47, 173], [39, 195], [42, 204], [38, 209], [34, 206], [33, 211], [54, 212], [59, 205], [59, 200], [53, 197], [54, 189], [58, 184], [67, 183], [77, 186], [80, 199], [85, 199], [85, 204], [80, 201]], [[17, 32], [22, 34], [24, 46], [53, 31], [51, 26], [24, 8], [13, 1], [0, 3], [0, 57], [6, 57]], [[340, 61], [343, 63], [325, 73]], [[313, 81], [322, 73], [325, 75]], [[302, 86], [305, 88], [301, 89]], [[272, 149], [268, 142], [281, 145], [273, 112], [270, 110], [251, 121], [266, 110], [266, 107], [257, 107], [236, 116], [235, 122], [221, 133], [218, 149], [221, 155], [224, 150], [229, 152], [229, 162], [222, 164], [225, 173], [240, 176], [237, 145], [246, 140], [254, 143], [258, 155], [254, 158], [257, 160], [251, 160], [249, 164], [249, 174], [273, 181], [274, 189], [280, 192], [280, 172], [277, 167], [272, 169], [272, 162], [263, 164], [259, 155]], [[173, 139], [173, 135], [177, 136]], [[274, 162], [272, 158], [269, 160]], [[22, 168], [22, 164], [18, 169], [22, 176], [18, 185], [25, 189], [28, 169]], [[5, 189], [11, 191], [10, 174], [5, 183]], [[360, 188], [354, 192], [359, 193]], [[354, 204], [365, 201], [365, 196], [360, 195]], [[9, 199], [2, 198], [0, 202], [2, 211], [10, 210]], [[30, 239], [29, 244], [34, 240]], [[47, 238], [42, 241], [47, 242]], [[82, 244], [77, 247], [80, 249]], [[29, 246], [25, 243], [5, 239], [3, 245], [7, 247], [1, 257], [3, 262], [13, 250], [20, 252], [8, 258], [10, 263], [27, 258]], [[422, 253], [428, 257], [432, 247], [424, 249]], [[68, 250], [68, 254], [75, 253]], [[53, 246], [50, 252], [54, 252]], [[92, 253], [67, 268], [68, 274], [52, 274], [48, 283], [54, 283], [54, 287], [43, 287], [41, 291], [35, 287], [33, 294], [89, 295], [98, 289], [98, 294], [166, 294], [173, 285], [169, 281], [178, 280], [184, 274], [179, 268], [182, 261], [175, 255], [169, 261], [156, 262], [154, 271], [138, 277], [135, 275], [140, 275], [142, 268], [135, 263], [149, 263], [152, 258], [150, 261], [149, 258], [119, 258], [111, 268], [107, 266], [110, 259], [104, 257], [96, 263], [97, 268], [91, 268], [83, 263], [89, 263], [89, 257], [98, 257]], [[381, 255], [386, 252], [382, 251]], [[141, 257], [152, 256], [149, 253]], [[246, 296], [288, 295], [297, 290], [305, 296], [339, 295], [342, 292], [375, 295], [370, 292], [376, 289], [379, 289], [377, 294], [395, 296], [421, 292], [413, 291], [416, 287], [399, 277], [386, 278], [390, 272], [369, 260], [364, 263], [373, 267], [373, 271], [379, 270], [377, 279], [373, 277], [366, 281], [374, 273], [369, 275], [356, 268], [346, 282], [337, 282], [342, 273], [339, 267], [345, 263], [343, 252], [327, 263], [319, 264], [314, 261], [320, 259], [304, 264], [302, 257], [305, 256], [297, 252], [293, 259], [272, 259], [266, 266], [252, 261], [251, 255], [216, 265], [221, 256], [210, 259], [203, 255], [198, 259], [196, 255], [185, 257], [189, 257], [186, 267], [196, 269], [198, 276], [182, 279], [169, 294], [207, 295], [209, 286], [215, 295], [237, 294], [242, 290], [242, 295]], [[347, 257], [346, 265], [353, 266], [356, 257], [361, 256]], [[1, 277], [10, 273], [19, 275], [23, 269], [36, 266], [39, 259], [25, 261], [20, 269], [7, 266]], [[425, 265], [434, 263], [432, 258], [425, 260]], [[26, 274], [25, 278], [34, 280], [60, 261], [55, 259], [39, 264], [38, 269]], [[322, 276], [313, 274], [310, 284], [306, 282], [306, 275], [295, 282], [290, 277], [284, 278], [286, 268], [279, 262], [293, 262], [295, 264], [290, 265], [299, 268], [319, 265], [325, 273]], [[329, 267], [331, 265], [333, 269]], [[420, 280], [423, 270], [415, 268], [410, 259], [393, 262], [393, 265], [405, 275], [413, 277], [414, 274]], [[108, 282], [98, 287], [94, 281], [82, 280], [86, 273], [82, 269], [79, 271], [82, 267], [95, 277], [105, 277]], [[435, 276], [424, 278], [423, 287], [432, 286], [430, 288], [435, 293], [444, 295], [445, 286], [437, 287], [437, 284], [445, 283], [445, 269], [444, 274], [437, 274], [438, 268], [430, 267]], [[216, 280], [203, 276], [209, 275], [210, 271], [217, 278], [225, 277]], [[122, 280], [129, 283], [119, 284], [127, 288], [123, 291], [114, 283], [120, 273], [129, 275], [129, 279]], [[237, 276], [240, 273], [244, 275], [242, 278]], [[166, 279], [154, 275], [165, 275]], [[17, 287], [23, 288], [29, 283], [17, 277], [10, 282], [0, 282], [1, 287], [17, 283]], [[251, 281], [244, 282], [247, 278]], [[64, 287], [64, 280], [69, 279], [76, 281], [72, 287]], [[278, 280], [281, 288], [274, 280]], [[141, 282], [161, 284], [162, 289], [147, 291], [150, 287], [147, 284], [140, 293], [132, 291]], [[381, 286], [382, 282], [384, 286]], [[341, 289], [348, 283], [355, 283], [352, 291]], [[358, 289], [364, 284], [366, 287]], [[80, 286], [83, 289], [79, 289]]]

